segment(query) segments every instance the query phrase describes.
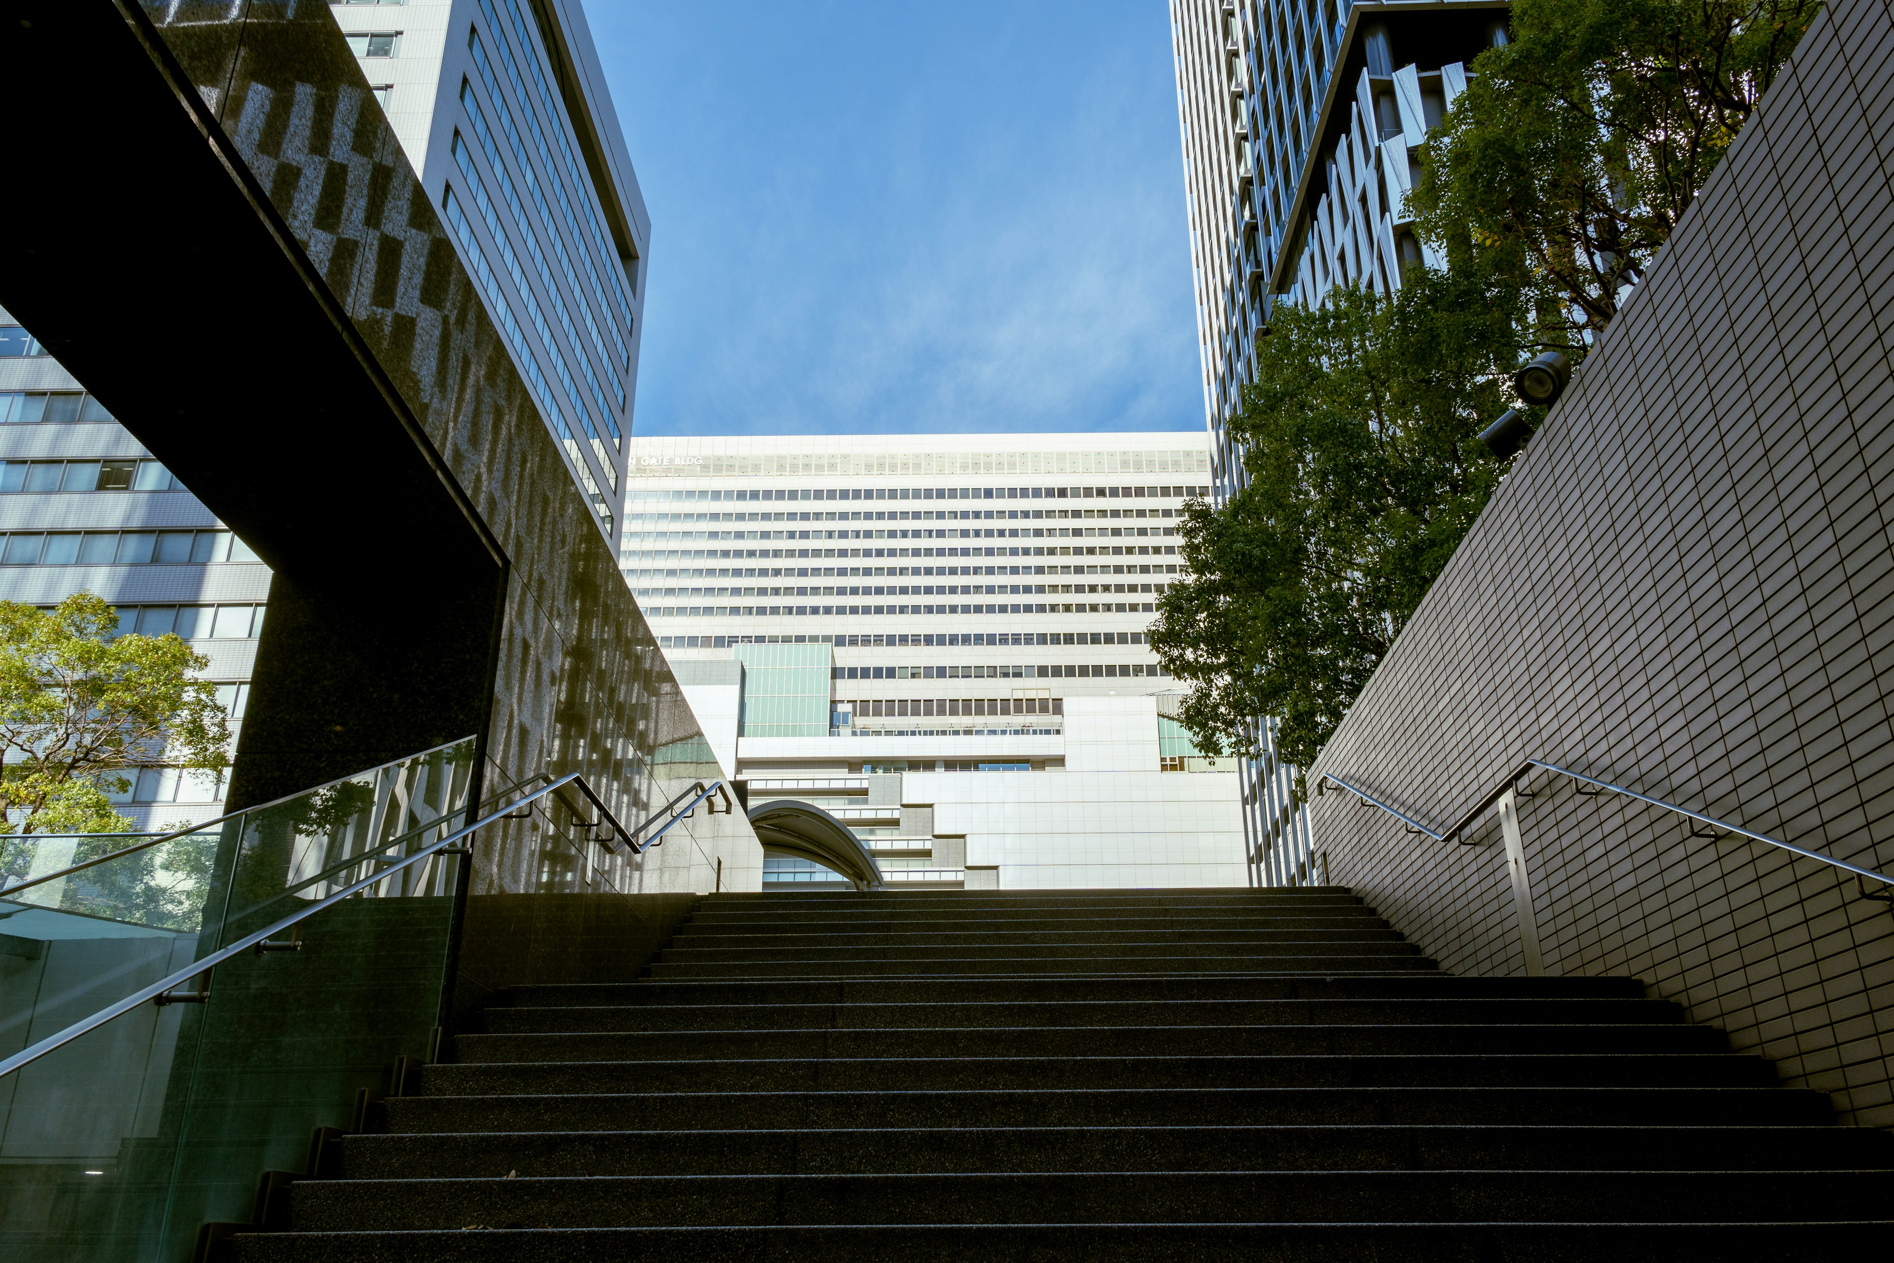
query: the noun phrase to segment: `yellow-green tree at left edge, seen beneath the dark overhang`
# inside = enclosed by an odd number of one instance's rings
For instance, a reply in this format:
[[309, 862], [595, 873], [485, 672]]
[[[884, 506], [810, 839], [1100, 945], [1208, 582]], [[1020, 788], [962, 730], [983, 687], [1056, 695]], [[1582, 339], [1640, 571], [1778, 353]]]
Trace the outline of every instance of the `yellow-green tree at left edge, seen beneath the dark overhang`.
[[222, 773], [229, 720], [208, 659], [176, 636], [114, 634], [93, 593], [53, 610], [0, 602], [0, 810], [11, 833], [114, 833], [110, 795], [140, 767]]

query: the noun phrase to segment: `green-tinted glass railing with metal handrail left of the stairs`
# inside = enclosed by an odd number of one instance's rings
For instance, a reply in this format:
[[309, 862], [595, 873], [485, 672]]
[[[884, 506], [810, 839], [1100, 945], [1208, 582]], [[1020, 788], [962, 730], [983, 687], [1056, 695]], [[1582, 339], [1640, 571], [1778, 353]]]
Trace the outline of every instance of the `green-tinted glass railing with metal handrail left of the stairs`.
[[[474, 742], [350, 776], [155, 845], [8, 839], [0, 1058], [373, 877], [466, 824]], [[426, 1060], [460, 856], [430, 856], [242, 952], [208, 998], [140, 1004], [0, 1077], [0, 1257], [186, 1263], [244, 1221], [258, 1176], [301, 1170], [396, 1057]], [[189, 990], [193, 985], [186, 985]]]

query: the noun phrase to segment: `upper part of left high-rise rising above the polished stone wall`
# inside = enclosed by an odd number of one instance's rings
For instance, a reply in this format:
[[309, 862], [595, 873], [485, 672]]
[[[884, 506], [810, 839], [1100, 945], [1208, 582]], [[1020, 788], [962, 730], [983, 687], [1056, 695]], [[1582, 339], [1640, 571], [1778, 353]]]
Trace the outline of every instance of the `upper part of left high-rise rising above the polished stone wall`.
[[612, 540], [652, 223], [580, 0], [330, 8]]

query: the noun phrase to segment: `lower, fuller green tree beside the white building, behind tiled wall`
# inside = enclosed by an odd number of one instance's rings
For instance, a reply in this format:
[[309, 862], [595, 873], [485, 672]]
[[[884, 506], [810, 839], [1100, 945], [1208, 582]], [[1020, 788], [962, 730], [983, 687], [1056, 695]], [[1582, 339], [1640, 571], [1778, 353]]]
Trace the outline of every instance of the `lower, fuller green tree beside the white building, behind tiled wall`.
[[1150, 642], [1201, 750], [1256, 754], [1269, 714], [1307, 767], [1498, 485], [1477, 436], [1519, 312], [1491, 276], [1411, 269], [1392, 299], [1335, 290], [1271, 326], [1231, 420], [1248, 485], [1186, 506]]

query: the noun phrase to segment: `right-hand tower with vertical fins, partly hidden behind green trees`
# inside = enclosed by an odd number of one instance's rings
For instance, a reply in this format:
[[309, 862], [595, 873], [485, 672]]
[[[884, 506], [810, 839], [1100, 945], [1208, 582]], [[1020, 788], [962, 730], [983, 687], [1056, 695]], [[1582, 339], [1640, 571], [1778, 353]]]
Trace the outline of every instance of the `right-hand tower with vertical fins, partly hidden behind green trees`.
[[[1277, 301], [1331, 286], [1390, 294], [1434, 261], [1405, 206], [1415, 150], [1506, 38], [1508, 4], [1170, 0], [1178, 125], [1218, 502], [1244, 483], [1227, 420]], [[1273, 884], [1316, 879], [1309, 820], [1273, 723], [1242, 759], [1244, 829]]]

